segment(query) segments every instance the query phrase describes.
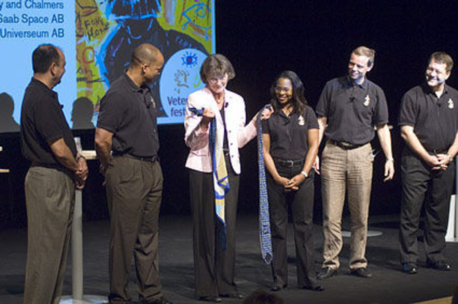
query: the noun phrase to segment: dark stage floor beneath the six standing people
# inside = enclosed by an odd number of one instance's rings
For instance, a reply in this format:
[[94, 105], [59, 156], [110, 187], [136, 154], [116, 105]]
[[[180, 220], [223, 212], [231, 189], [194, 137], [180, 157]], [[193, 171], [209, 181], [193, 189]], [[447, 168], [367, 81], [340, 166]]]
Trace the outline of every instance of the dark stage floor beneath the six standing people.
[[[348, 228], [348, 219], [344, 228]], [[396, 216], [371, 217], [370, 229], [381, 236], [370, 237], [367, 244], [369, 269], [374, 278], [352, 277], [347, 270], [349, 246], [344, 238], [341, 270], [337, 277], [322, 282], [324, 292], [317, 293], [296, 287], [292, 227], [289, 228], [289, 288], [278, 294], [287, 304], [314, 303], [413, 303], [447, 297], [458, 284], [458, 244], [447, 243], [446, 255], [452, 271], [420, 268], [417, 275], [399, 271], [398, 221]], [[84, 292], [104, 295], [108, 291], [108, 222], [85, 222], [84, 226]], [[164, 294], [181, 304], [202, 304], [194, 296], [191, 217], [166, 216], [160, 219], [160, 272]], [[320, 268], [322, 227], [315, 225], [315, 266]], [[271, 283], [269, 266], [259, 254], [257, 216], [238, 217], [237, 283], [242, 293], [257, 288], [268, 289]], [[8, 230], [0, 233], [0, 303], [22, 303], [23, 282], [27, 255], [27, 230]], [[421, 243], [420, 243], [421, 244]], [[69, 259], [69, 261], [71, 261]], [[424, 266], [424, 258], [423, 258]], [[131, 277], [131, 293], [136, 299], [135, 276]], [[71, 265], [65, 277], [64, 294], [71, 294]], [[223, 303], [240, 303], [224, 299]]]

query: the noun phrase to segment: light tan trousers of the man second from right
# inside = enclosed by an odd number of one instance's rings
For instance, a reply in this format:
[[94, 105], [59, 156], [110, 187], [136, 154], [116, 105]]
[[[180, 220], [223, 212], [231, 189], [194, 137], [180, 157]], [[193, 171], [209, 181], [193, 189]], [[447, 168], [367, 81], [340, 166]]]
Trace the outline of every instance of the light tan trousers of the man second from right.
[[337, 269], [342, 250], [345, 191], [351, 217], [350, 269], [366, 267], [367, 217], [371, 200], [371, 144], [344, 150], [326, 142], [322, 153], [323, 267]]

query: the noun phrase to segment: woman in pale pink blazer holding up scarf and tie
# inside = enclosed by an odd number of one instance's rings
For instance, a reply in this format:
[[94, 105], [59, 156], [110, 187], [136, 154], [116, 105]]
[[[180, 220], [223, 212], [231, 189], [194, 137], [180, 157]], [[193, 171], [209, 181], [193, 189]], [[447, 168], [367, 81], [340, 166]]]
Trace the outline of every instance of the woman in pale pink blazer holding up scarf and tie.
[[[189, 95], [185, 115], [185, 142], [190, 148], [186, 168], [190, 174], [194, 277], [199, 300], [220, 302], [220, 297], [243, 298], [234, 282], [239, 148], [256, 136], [256, 116], [245, 125], [243, 98], [226, 89], [227, 82], [235, 76], [226, 57], [210, 55], [203, 62], [200, 74], [206, 86]], [[201, 113], [193, 113], [190, 109]], [[229, 179], [229, 191], [224, 197], [225, 225], [215, 214], [209, 145], [212, 121], [216, 122], [217, 133], [224, 132], [223, 154]]]

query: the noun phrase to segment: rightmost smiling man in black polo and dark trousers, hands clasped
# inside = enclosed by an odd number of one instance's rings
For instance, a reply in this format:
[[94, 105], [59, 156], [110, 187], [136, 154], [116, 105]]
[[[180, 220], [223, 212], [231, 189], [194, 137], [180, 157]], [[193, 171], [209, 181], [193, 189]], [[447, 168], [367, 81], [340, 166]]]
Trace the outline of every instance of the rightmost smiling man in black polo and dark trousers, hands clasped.
[[458, 91], [445, 84], [452, 71], [452, 58], [442, 52], [431, 55], [426, 83], [404, 94], [398, 125], [405, 140], [401, 174], [403, 197], [400, 222], [402, 271], [417, 273], [417, 232], [425, 202], [426, 265], [450, 270], [443, 255], [450, 196], [453, 191], [458, 151]]

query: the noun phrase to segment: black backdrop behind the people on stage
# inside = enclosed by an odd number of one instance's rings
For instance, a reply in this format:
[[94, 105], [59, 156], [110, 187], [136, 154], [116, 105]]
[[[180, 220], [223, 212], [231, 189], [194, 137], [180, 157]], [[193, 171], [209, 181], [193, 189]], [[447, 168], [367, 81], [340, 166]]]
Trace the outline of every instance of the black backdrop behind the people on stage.
[[[368, 74], [385, 91], [390, 111], [396, 173], [382, 182], [382, 152], [374, 163], [371, 214], [397, 213], [400, 204], [399, 159], [403, 143], [397, 124], [403, 93], [424, 80], [428, 56], [437, 50], [458, 61], [458, 8], [456, 1], [249, 1], [216, 0], [217, 52], [234, 65], [236, 77], [228, 88], [246, 102], [247, 120], [267, 101], [274, 77], [283, 70], [295, 71], [305, 84], [312, 107], [326, 81], [343, 76], [349, 53], [359, 45], [376, 49], [375, 66]], [[431, 5], [430, 5], [431, 3]], [[434, 5], [432, 5], [434, 4]], [[456, 70], [456, 69], [455, 69]], [[452, 71], [448, 83], [458, 87]], [[65, 81], [65, 76], [63, 81]], [[83, 148], [93, 149], [93, 131], [76, 131]], [[187, 214], [188, 177], [184, 168], [188, 149], [182, 125], [159, 126], [160, 159], [164, 171], [163, 213]], [[23, 180], [28, 164], [20, 155], [19, 135], [0, 135], [0, 228], [27, 223]], [[374, 147], [380, 150], [378, 141]], [[239, 212], [257, 211], [256, 143], [241, 150], [242, 175]], [[106, 200], [97, 173], [83, 192], [86, 220], [107, 218]], [[316, 179], [315, 219], [321, 220], [320, 179]]]

